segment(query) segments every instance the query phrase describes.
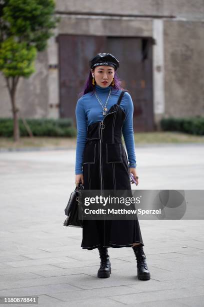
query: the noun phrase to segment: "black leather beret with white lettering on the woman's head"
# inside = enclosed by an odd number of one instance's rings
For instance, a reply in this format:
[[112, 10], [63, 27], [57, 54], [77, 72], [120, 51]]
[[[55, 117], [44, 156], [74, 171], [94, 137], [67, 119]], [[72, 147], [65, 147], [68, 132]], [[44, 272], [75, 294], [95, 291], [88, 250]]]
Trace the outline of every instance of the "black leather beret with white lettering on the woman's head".
[[90, 69], [100, 65], [108, 65], [116, 70], [119, 67], [119, 61], [110, 53], [97, 53], [89, 61]]

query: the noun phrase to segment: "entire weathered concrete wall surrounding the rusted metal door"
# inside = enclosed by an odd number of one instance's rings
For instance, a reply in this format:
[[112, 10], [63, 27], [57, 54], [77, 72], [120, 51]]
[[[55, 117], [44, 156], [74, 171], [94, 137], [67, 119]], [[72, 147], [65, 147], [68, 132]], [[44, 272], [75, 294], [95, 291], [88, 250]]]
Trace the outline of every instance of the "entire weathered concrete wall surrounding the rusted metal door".
[[[204, 0], [56, 0], [58, 34], [153, 37], [154, 118], [203, 115]], [[59, 116], [55, 37], [38, 54], [36, 72], [21, 79], [17, 104], [25, 117]], [[0, 75], [0, 117], [11, 116]]]

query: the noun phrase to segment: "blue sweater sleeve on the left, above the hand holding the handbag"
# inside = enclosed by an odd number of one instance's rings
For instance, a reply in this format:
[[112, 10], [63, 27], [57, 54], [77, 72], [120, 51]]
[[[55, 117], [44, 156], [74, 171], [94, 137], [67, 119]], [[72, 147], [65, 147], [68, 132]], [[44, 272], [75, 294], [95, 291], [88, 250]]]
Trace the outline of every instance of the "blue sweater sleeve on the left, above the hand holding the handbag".
[[75, 109], [76, 115], [76, 157], [75, 157], [75, 175], [83, 174], [82, 172], [82, 160], [83, 160], [83, 150], [87, 135], [87, 122], [86, 115], [83, 107], [83, 100], [78, 99]]

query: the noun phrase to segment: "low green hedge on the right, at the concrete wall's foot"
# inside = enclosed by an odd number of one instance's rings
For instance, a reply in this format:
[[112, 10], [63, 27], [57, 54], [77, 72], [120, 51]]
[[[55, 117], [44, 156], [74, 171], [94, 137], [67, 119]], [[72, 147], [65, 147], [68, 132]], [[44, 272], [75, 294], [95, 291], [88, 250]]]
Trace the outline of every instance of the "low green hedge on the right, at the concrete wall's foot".
[[181, 131], [204, 135], [204, 117], [163, 118], [160, 121], [160, 125], [164, 131]]

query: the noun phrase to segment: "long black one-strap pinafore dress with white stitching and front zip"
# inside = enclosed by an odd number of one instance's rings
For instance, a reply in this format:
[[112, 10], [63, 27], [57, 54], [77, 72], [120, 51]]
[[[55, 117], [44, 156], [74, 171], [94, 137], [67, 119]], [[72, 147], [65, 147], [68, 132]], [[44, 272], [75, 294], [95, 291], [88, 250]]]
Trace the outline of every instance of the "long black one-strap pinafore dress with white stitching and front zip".
[[[131, 190], [126, 152], [122, 144], [122, 124], [125, 112], [120, 93], [102, 121], [88, 125], [83, 151], [84, 190]], [[134, 242], [144, 246], [139, 222], [135, 220], [83, 220], [83, 249], [131, 247]]]

